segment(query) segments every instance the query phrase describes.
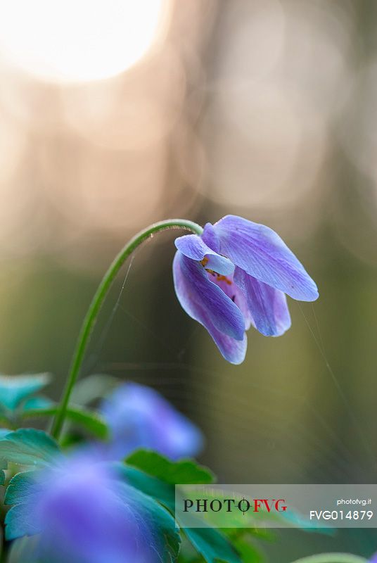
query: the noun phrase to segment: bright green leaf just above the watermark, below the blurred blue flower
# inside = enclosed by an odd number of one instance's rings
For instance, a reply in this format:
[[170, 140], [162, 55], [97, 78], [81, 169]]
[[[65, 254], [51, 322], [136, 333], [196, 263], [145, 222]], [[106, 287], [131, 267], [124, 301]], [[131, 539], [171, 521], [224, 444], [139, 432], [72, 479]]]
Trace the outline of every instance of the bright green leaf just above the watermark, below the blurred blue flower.
[[205, 485], [215, 481], [215, 475], [210, 469], [198, 465], [193, 460], [172, 462], [167, 457], [151, 450], [137, 450], [127, 457], [126, 462], [148, 475], [172, 485]]

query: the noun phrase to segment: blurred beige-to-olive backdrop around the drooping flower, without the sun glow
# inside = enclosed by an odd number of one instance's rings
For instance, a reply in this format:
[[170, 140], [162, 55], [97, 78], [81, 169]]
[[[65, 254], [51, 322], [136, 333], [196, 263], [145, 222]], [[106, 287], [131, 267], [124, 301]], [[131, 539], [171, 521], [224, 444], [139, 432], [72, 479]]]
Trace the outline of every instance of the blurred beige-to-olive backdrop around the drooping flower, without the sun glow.
[[[314, 305], [290, 300], [290, 331], [251, 329], [245, 362], [227, 365], [177, 303], [177, 233], [163, 233], [116, 280], [84, 374], [158, 388], [203, 429], [219, 482], [374, 483], [377, 4], [152, 4], [163, 25], [148, 50], [96, 80], [33, 73], [7, 58], [0, 29], [1, 372], [52, 372], [58, 398], [129, 236], [167, 217], [243, 215], [317, 281]], [[279, 563], [368, 556], [377, 534], [281, 531], [264, 549]]]

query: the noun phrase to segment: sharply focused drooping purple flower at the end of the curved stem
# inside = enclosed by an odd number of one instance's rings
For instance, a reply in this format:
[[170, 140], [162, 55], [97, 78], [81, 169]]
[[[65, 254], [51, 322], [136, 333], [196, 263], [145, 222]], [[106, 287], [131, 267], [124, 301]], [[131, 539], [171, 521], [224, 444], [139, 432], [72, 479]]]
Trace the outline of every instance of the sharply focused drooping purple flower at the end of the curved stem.
[[264, 336], [290, 327], [286, 294], [315, 301], [317, 286], [280, 236], [263, 224], [226, 215], [203, 234], [175, 241], [174, 287], [179, 302], [203, 324], [226, 360], [243, 362], [245, 331]]

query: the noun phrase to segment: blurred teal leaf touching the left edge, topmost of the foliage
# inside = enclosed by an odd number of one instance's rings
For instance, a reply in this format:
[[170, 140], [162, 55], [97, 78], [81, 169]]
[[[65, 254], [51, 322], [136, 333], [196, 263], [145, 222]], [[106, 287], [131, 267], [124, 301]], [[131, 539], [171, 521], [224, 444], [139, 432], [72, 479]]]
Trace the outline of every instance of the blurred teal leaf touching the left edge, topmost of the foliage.
[[49, 374], [0, 375], [0, 404], [15, 410], [26, 397], [49, 383]]

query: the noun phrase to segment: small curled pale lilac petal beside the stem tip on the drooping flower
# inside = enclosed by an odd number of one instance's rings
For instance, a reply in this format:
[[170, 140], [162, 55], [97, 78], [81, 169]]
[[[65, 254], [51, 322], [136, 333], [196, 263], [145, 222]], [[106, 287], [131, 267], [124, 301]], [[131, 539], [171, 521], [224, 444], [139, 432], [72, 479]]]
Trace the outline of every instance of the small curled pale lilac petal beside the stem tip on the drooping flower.
[[234, 272], [234, 264], [231, 260], [212, 251], [212, 248], [207, 246], [197, 234], [179, 236], [178, 239], [175, 239], [175, 246], [182, 254], [192, 260], [200, 262], [203, 258], [207, 258], [205, 267], [209, 270], [214, 270], [224, 276]]

